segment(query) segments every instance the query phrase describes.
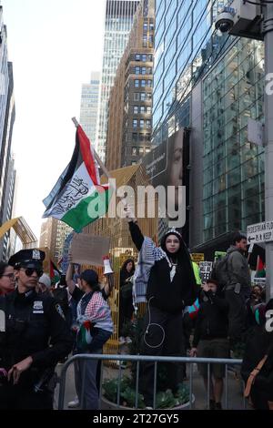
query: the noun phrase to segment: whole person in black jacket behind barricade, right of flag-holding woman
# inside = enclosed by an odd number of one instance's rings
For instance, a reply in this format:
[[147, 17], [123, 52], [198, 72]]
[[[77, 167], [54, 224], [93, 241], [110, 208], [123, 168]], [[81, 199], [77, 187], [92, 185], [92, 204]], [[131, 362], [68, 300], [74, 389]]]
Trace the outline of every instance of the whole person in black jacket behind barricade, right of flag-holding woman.
[[[228, 303], [221, 293], [217, 292], [217, 282], [208, 280], [204, 284], [199, 297], [200, 308], [197, 312], [197, 324], [193, 339], [191, 357], [199, 358], [229, 358]], [[213, 363], [210, 365], [209, 379], [209, 409], [221, 410], [225, 376], [225, 365]], [[207, 390], [207, 364], [199, 364]]]

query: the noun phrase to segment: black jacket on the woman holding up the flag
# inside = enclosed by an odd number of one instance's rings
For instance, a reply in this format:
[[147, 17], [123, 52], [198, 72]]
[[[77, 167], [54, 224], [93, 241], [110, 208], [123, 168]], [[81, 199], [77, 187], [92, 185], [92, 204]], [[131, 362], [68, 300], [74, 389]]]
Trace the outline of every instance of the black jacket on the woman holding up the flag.
[[[144, 237], [136, 223], [130, 222], [131, 237], [140, 250]], [[177, 258], [177, 272], [170, 281], [167, 259], [156, 261], [147, 283], [147, 301], [161, 311], [177, 313], [197, 299], [197, 283], [185, 244], [182, 242]]]

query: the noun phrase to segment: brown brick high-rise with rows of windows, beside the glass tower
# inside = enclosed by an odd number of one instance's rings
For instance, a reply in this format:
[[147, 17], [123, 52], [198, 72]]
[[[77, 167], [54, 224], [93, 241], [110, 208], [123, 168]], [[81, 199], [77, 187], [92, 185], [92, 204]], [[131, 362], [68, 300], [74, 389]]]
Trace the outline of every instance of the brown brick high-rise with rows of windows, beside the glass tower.
[[106, 167], [136, 165], [151, 149], [155, 0], [142, 0], [109, 99]]

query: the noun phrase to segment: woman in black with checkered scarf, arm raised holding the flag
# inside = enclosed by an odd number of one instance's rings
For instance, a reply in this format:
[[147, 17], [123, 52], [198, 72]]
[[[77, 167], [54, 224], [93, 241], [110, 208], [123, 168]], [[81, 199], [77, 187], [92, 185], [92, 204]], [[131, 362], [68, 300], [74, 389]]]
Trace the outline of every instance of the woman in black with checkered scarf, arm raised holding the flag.
[[[187, 247], [177, 229], [169, 229], [158, 248], [144, 237], [137, 221], [126, 209], [131, 237], [139, 251], [135, 274], [135, 304], [147, 301], [143, 355], [186, 356], [183, 310], [197, 299], [197, 283]], [[167, 388], [177, 392], [183, 381], [183, 366], [167, 364]], [[154, 362], [141, 367], [140, 391], [147, 408], [153, 407]]]

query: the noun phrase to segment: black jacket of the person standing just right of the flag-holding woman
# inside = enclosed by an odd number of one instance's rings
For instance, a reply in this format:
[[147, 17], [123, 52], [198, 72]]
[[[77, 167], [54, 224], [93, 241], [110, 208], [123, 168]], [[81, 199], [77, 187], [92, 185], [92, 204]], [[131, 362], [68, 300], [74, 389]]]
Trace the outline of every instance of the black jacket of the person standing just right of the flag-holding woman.
[[227, 301], [217, 294], [213, 294], [212, 291], [207, 291], [204, 294], [207, 301], [200, 301], [193, 340], [194, 348], [197, 347], [200, 340], [227, 338]]

